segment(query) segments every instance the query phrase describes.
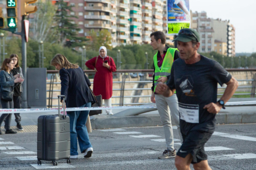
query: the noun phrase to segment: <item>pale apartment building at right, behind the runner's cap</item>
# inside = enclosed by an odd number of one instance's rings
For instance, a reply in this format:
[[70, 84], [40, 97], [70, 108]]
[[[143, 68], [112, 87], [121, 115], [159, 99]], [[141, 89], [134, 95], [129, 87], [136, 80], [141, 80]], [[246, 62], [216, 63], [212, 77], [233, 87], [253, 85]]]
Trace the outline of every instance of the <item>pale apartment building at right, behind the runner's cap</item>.
[[[201, 13], [194, 12], [191, 16], [191, 28], [197, 30], [200, 34], [201, 45], [198, 52], [211, 52], [217, 50], [218, 53], [223, 55], [226, 54], [229, 57], [236, 55], [235, 28], [229, 21], [207, 18], [207, 13], [204, 11]], [[216, 42], [218, 42], [217, 45]], [[221, 42], [221, 48], [216, 49], [216, 46], [219, 47]], [[225, 43], [226, 50], [224, 48]]]

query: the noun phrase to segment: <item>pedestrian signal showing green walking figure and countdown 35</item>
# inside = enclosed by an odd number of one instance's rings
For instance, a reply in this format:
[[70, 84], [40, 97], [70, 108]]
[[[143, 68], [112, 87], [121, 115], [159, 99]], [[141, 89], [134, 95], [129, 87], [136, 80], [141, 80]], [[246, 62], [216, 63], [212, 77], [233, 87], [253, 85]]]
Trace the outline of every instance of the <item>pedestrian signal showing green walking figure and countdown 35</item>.
[[17, 0], [6, 0], [7, 27], [17, 27]]

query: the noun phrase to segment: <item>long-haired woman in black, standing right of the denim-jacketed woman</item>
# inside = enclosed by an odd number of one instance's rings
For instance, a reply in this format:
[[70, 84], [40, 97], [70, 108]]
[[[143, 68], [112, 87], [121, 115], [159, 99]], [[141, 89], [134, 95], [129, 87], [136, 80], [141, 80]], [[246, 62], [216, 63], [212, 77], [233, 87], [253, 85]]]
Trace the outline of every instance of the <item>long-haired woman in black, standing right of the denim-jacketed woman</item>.
[[[11, 70], [13, 76], [17, 75], [24, 79], [22, 74], [22, 68], [19, 66], [19, 56], [17, 54], [11, 54], [10, 59], [14, 61], [14, 69]], [[20, 108], [21, 105], [21, 95], [22, 95], [22, 83], [15, 83], [14, 85], [14, 108]], [[17, 129], [23, 131], [20, 124], [21, 116], [20, 113], [14, 113], [15, 122], [17, 123]]]

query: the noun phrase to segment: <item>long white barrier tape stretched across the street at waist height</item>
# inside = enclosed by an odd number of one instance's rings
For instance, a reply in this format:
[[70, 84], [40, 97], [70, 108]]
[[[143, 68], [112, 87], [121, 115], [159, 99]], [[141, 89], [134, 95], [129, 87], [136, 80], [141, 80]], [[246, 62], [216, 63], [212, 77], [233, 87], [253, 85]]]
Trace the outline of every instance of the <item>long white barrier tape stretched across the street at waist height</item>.
[[[227, 102], [225, 106], [234, 106], [234, 105], [256, 105], [256, 101], [248, 102]], [[127, 109], [127, 108], [156, 108], [156, 105], [139, 105], [139, 106], [122, 106], [122, 107], [73, 107], [66, 108], [65, 111], [82, 111], [82, 110], [109, 110], [109, 109]], [[61, 108], [60, 111], [64, 111]], [[58, 113], [58, 108], [13, 108], [13, 109], [0, 109], [1, 113], [46, 113], [46, 112], [56, 112]]]

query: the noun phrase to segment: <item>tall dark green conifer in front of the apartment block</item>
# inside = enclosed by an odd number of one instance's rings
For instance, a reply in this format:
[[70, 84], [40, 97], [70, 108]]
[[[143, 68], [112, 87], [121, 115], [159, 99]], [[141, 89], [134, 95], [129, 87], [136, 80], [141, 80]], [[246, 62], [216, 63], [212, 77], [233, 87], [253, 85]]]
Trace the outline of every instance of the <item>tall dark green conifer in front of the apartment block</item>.
[[69, 14], [69, 12], [73, 12], [72, 7], [74, 6], [67, 6], [67, 2], [63, 0], [56, 2], [56, 6], [58, 6], [58, 9], [54, 15], [54, 20], [56, 21], [54, 28], [57, 28], [58, 31], [59, 44], [67, 47], [84, 46], [84, 42], [88, 39], [77, 36], [80, 28], [72, 20], [72, 18], [77, 18], [77, 16]]

